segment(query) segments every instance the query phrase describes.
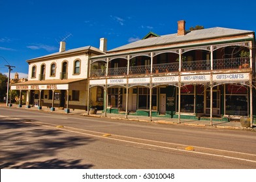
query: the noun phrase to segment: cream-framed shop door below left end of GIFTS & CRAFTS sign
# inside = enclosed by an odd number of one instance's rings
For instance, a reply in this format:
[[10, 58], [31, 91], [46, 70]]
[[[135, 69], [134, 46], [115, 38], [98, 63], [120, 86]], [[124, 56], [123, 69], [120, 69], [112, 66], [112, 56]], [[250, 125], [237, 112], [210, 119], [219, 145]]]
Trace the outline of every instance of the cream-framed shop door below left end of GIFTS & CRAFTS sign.
[[[206, 114], [210, 114], [210, 90], [206, 91]], [[220, 92], [219, 90], [212, 90], [212, 114], [220, 115]]]

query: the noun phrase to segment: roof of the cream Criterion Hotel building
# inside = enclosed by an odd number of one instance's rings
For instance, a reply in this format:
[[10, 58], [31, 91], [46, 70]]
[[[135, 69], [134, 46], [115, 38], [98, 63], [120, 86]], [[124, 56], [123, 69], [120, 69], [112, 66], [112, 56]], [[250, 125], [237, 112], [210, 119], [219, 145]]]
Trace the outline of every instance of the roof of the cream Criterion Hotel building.
[[91, 45], [85, 46], [85, 47], [79, 47], [76, 49], [70, 49], [67, 51], [63, 51], [63, 52], [57, 52], [57, 53], [52, 53], [50, 55], [45, 55], [42, 57], [37, 57], [35, 59], [29, 59], [27, 60], [27, 62], [33, 62], [35, 60], [43, 60], [43, 59], [50, 59], [50, 58], [57, 58], [57, 57], [63, 57], [63, 56], [69, 56], [75, 53], [86, 53], [86, 52], [91, 52], [91, 53], [95, 53], [97, 55], [104, 55], [106, 53], [104, 53], [103, 51], [100, 51], [99, 49], [97, 49], [96, 47], [92, 47]]

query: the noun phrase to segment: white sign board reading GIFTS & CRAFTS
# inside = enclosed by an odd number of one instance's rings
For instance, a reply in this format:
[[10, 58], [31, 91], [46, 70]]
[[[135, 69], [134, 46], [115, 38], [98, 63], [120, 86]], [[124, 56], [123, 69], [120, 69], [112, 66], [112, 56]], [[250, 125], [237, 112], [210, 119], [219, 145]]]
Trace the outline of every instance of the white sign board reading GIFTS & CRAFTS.
[[229, 73], [212, 75], [212, 81], [248, 81], [249, 73]]

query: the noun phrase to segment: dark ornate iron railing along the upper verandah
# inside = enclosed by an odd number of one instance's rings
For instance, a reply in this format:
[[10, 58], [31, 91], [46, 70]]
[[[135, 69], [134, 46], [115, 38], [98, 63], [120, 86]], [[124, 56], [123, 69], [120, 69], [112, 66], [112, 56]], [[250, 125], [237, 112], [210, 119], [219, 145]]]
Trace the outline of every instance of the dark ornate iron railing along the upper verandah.
[[[214, 59], [212, 63], [212, 70], [240, 70], [242, 68], [249, 68], [249, 57], [238, 57], [229, 59]], [[99, 66], [98, 66], [99, 67]], [[106, 72], [106, 67], [97, 66], [91, 68], [90, 77], [104, 77], [104, 76], [121, 76], [121, 75], [148, 75], [157, 73], [172, 73], [172, 72], [199, 72], [199, 71], [209, 71], [211, 70], [210, 60], [194, 60], [194, 61], [184, 61], [181, 63], [181, 69], [179, 62], [170, 62], [162, 64], [153, 64], [152, 72], [150, 64], [140, 65], [140, 66], [129, 66], [129, 72], [127, 66], [108, 68]], [[106, 75], [107, 73], [107, 75]]]

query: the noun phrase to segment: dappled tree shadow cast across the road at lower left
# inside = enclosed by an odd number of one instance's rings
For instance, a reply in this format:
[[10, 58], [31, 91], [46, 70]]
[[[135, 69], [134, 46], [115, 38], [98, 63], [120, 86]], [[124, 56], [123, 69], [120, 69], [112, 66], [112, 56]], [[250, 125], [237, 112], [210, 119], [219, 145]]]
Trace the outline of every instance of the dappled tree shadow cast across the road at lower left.
[[58, 153], [65, 149], [88, 145], [95, 139], [67, 135], [67, 132], [55, 128], [45, 129], [33, 124], [33, 120], [26, 122], [0, 118], [0, 140], [0, 168], [93, 167], [93, 164], [82, 163], [82, 159], [58, 159]]

